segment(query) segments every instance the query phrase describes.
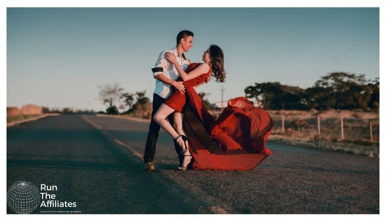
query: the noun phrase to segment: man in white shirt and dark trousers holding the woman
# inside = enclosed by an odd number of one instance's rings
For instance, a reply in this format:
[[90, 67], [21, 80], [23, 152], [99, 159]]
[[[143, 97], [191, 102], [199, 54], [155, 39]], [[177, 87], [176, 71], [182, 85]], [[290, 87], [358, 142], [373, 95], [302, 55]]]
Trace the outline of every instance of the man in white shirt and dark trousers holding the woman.
[[[177, 61], [182, 67], [182, 69], [186, 70], [189, 62], [185, 58], [185, 55], [183, 53], [188, 52], [189, 49], [192, 47], [193, 36], [194, 34], [191, 31], [180, 31], [177, 35], [177, 46], [173, 49], [162, 51], [159, 54], [157, 62], [155, 62], [155, 67], [151, 69], [153, 71], [153, 76], [156, 81], [153, 93], [153, 111], [151, 113], [149, 133], [147, 134], [145, 154], [143, 156], [146, 171], [155, 171], [155, 167], [153, 165], [153, 158], [155, 154], [155, 143], [157, 142], [160, 126], [153, 120], [153, 117], [157, 112], [158, 108], [161, 106], [161, 104], [172, 93], [171, 86], [173, 86], [181, 93], [185, 92], [185, 86], [183, 85], [183, 82], [176, 81], [179, 76], [178, 72], [175, 69], [174, 65], [167, 61], [165, 53], [173, 53], [177, 57]], [[171, 125], [174, 125], [172, 115], [168, 117], [168, 120]], [[175, 141], [174, 148], [179, 158], [179, 164], [181, 165], [183, 157], [180, 154], [181, 149]]]

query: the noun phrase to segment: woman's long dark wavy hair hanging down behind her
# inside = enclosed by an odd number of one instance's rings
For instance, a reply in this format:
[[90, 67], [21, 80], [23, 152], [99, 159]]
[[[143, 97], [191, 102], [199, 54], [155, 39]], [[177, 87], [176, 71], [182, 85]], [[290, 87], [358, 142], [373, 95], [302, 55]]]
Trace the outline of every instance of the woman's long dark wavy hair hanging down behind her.
[[217, 45], [211, 45], [209, 54], [211, 55], [212, 76], [216, 77], [216, 82], [225, 82], [223, 50]]

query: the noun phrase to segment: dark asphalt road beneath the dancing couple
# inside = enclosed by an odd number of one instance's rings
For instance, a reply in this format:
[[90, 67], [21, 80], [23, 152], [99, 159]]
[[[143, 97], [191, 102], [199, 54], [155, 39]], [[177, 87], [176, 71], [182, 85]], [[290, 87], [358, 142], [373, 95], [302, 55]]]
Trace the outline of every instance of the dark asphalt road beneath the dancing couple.
[[378, 158], [268, 142], [273, 154], [251, 171], [178, 171], [161, 131], [150, 173], [147, 129], [91, 115], [7, 128], [7, 190], [19, 180], [56, 185], [56, 200], [77, 204], [33, 213], [379, 213]]

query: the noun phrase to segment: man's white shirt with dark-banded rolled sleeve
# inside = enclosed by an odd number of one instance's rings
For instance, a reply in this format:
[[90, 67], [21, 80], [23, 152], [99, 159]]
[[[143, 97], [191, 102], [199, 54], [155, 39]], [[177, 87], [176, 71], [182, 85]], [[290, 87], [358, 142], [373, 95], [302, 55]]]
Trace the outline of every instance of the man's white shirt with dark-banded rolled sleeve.
[[[174, 64], [166, 59], [166, 52], [171, 52], [177, 57], [177, 62], [182, 70], [186, 70], [187, 66], [189, 65], [187, 59], [185, 60], [178, 56], [177, 48], [165, 50], [159, 54], [158, 60], [155, 62], [154, 68], [152, 68], [153, 76], [163, 74], [165, 77], [170, 78], [171, 80], [176, 80], [179, 76], [178, 71], [175, 69]], [[162, 81], [156, 79], [154, 93], [166, 99], [171, 94], [171, 85], [165, 84]]]

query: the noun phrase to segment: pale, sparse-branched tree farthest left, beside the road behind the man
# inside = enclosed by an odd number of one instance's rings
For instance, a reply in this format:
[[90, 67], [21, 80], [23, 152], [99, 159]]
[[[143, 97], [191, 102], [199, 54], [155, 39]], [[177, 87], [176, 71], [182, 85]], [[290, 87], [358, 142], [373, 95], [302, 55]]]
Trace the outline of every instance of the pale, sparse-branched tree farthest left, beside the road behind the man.
[[[103, 102], [103, 104], [108, 104], [106, 112], [108, 114], [117, 114], [117, 106], [122, 106], [122, 91], [123, 88], [120, 87], [119, 83], [114, 84], [104, 84], [98, 86], [100, 89], [98, 98]], [[115, 107], [115, 108], [114, 108]]]

